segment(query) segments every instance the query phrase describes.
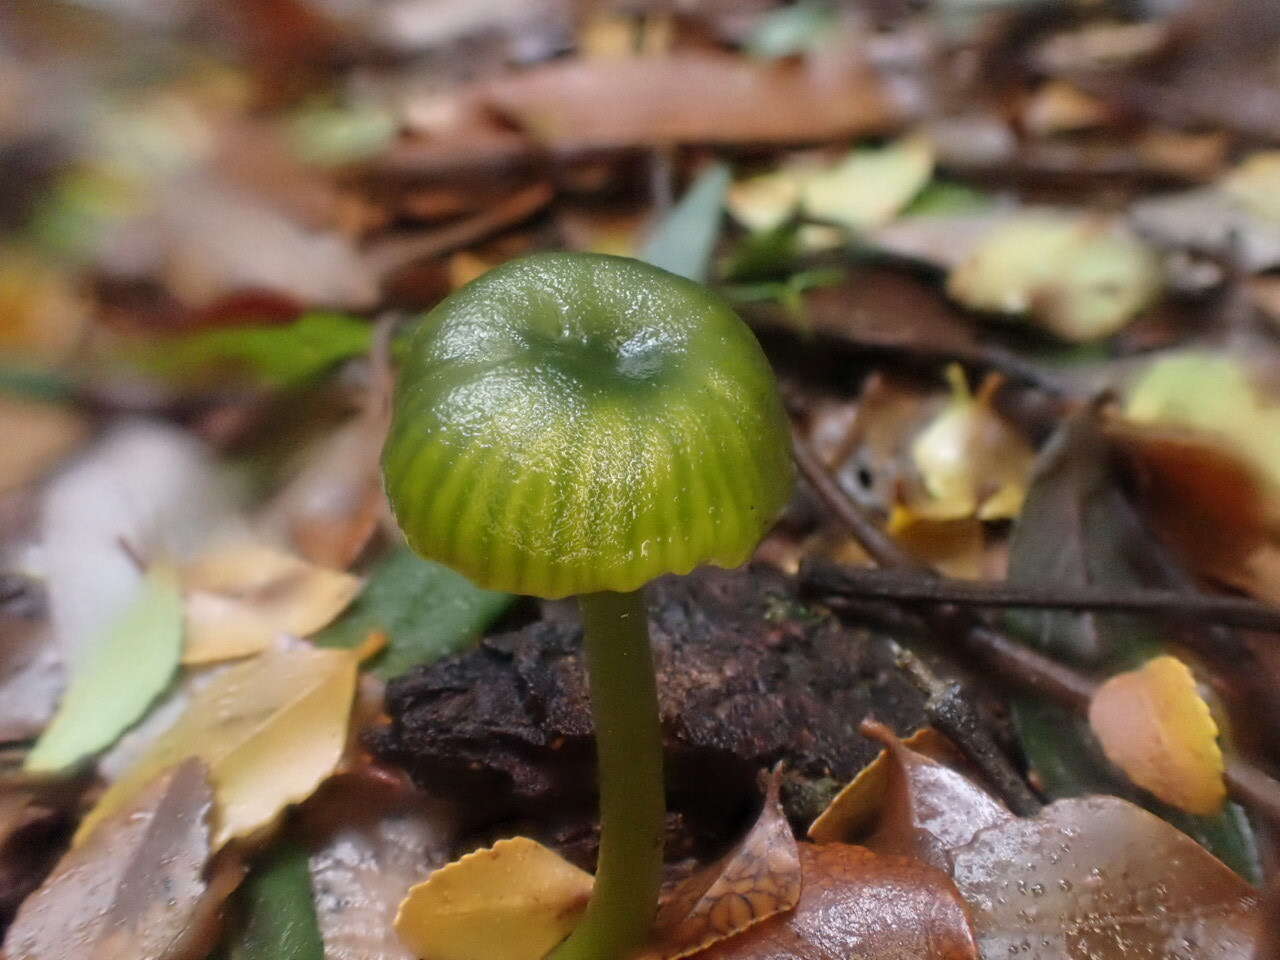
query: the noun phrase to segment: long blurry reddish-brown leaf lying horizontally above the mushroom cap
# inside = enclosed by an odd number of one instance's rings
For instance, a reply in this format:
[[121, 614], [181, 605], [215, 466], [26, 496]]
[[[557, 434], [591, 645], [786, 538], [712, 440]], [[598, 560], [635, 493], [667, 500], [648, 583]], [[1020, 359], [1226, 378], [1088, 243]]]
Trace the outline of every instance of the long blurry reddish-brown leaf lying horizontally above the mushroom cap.
[[788, 142], [884, 129], [876, 78], [840, 64], [755, 63], [710, 52], [558, 60], [492, 82], [480, 97], [556, 150]]

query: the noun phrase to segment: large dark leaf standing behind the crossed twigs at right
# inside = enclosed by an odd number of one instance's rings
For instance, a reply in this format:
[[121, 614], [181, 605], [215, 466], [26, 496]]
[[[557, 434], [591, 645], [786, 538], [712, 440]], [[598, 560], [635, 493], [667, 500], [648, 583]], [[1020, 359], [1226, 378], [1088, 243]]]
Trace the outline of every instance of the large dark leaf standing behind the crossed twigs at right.
[[[1156, 563], [1132, 506], [1115, 484], [1106, 439], [1087, 415], [1068, 421], [1037, 463], [1009, 552], [1009, 580], [1110, 588], [1180, 586]], [[1025, 612], [1007, 626], [1030, 646], [1091, 672], [1110, 675], [1164, 653], [1161, 625], [1130, 614]], [[1222, 863], [1257, 882], [1260, 864], [1243, 813], [1229, 804], [1193, 817], [1138, 791], [1116, 772], [1075, 713], [1038, 696], [1012, 699], [1014, 724], [1027, 760], [1052, 799], [1114, 794], [1142, 804], [1194, 837]]]

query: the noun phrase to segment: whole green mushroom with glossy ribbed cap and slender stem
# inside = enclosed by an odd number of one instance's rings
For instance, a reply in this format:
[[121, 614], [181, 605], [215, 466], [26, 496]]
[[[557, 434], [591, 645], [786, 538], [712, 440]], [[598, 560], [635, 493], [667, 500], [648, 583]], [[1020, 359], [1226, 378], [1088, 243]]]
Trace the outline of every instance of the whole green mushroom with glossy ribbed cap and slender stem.
[[636, 260], [504, 264], [412, 334], [383, 451], [410, 545], [480, 586], [581, 604], [600, 852], [556, 960], [617, 960], [648, 936], [666, 804], [643, 588], [750, 557], [791, 493], [787, 436], [746, 325]]

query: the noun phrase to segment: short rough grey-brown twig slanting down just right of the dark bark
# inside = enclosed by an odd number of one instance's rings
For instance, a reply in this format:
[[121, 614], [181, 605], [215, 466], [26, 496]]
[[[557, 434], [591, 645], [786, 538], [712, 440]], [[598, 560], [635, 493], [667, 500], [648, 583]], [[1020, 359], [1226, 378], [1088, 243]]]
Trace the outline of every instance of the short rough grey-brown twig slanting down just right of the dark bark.
[[940, 680], [910, 650], [893, 644], [897, 666], [928, 699], [924, 710], [929, 722], [946, 733], [977, 764], [1005, 804], [1019, 817], [1034, 817], [1041, 801], [1000, 750], [964, 689], [954, 680]]

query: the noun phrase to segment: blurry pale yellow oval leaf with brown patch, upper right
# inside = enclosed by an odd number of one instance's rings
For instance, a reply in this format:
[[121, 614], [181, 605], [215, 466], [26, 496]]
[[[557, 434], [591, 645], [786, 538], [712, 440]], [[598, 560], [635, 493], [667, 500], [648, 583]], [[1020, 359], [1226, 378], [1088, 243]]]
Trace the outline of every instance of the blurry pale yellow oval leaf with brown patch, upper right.
[[1065, 340], [1119, 330], [1160, 291], [1155, 256], [1101, 218], [1027, 212], [996, 227], [947, 278], [968, 307], [1028, 315]]

